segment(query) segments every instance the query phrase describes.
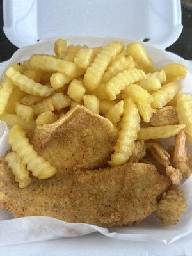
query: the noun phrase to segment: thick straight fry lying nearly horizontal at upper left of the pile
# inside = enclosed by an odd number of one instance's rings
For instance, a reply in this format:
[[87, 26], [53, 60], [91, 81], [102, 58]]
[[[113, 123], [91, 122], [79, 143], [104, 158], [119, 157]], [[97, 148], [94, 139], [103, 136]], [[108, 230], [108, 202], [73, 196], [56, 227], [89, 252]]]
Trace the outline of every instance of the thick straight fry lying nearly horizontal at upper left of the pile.
[[30, 58], [30, 65], [35, 70], [45, 72], [61, 72], [69, 77], [76, 76], [76, 64], [70, 61], [56, 59], [53, 56], [34, 54]]

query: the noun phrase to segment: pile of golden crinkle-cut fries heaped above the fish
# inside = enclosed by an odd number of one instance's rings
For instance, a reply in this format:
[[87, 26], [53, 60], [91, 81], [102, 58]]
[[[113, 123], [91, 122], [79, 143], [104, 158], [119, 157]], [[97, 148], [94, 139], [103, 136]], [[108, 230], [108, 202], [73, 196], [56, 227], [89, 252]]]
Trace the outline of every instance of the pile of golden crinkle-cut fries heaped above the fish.
[[[55, 56], [34, 54], [24, 63], [11, 65], [1, 79], [0, 119], [12, 127], [13, 152], [6, 161], [21, 187], [29, 184], [29, 171], [40, 179], [56, 173], [38, 156], [23, 130], [56, 122], [77, 104], [118, 127], [111, 166], [129, 160], [136, 140], [170, 138], [184, 129], [192, 144], [192, 100], [179, 92], [186, 67], [172, 63], [155, 70], [138, 42], [127, 49], [122, 42], [89, 48], [67, 45], [60, 38], [54, 52]], [[170, 115], [170, 109], [175, 117], [161, 120], [162, 115]], [[18, 173], [26, 175], [24, 184]]]

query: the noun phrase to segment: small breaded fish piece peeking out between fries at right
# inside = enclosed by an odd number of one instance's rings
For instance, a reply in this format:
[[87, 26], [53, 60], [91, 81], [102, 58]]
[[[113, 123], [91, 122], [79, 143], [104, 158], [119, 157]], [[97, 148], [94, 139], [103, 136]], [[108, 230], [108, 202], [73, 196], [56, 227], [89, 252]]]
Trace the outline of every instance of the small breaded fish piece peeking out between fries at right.
[[150, 122], [148, 124], [154, 127], [179, 124], [176, 108], [172, 106], [165, 106], [157, 109], [154, 115], [150, 118]]

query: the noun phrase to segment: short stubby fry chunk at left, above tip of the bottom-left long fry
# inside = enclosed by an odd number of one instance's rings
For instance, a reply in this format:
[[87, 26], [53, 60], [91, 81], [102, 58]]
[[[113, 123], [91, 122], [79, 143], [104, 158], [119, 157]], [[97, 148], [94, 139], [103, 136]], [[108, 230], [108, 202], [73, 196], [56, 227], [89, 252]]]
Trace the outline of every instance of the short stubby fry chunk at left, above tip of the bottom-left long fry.
[[17, 102], [17, 104], [15, 104], [15, 113], [27, 123], [33, 120], [34, 110], [30, 106], [26, 106]]

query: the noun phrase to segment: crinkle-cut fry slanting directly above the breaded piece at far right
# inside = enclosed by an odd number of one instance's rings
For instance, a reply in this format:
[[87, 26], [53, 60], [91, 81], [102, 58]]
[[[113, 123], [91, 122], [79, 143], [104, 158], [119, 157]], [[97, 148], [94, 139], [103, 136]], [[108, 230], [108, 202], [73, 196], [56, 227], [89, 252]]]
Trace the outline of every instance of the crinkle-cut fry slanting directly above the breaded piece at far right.
[[152, 93], [152, 97], [154, 98], [151, 104], [152, 108], [156, 109], [166, 106], [178, 92], [179, 84], [177, 82], [165, 84], [160, 90]]

